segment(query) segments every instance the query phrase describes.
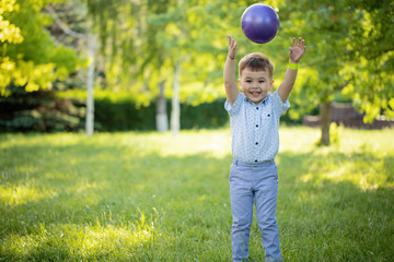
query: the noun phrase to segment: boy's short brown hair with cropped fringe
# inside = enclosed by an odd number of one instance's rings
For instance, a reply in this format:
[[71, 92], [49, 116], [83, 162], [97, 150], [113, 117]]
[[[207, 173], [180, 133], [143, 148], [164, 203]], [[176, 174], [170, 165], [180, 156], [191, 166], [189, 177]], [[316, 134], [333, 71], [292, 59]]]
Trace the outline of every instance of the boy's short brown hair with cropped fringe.
[[251, 71], [268, 70], [268, 75], [273, 79], [274, 64], [269, 61], [269, 58], [266, 55], [263, 55], [260, 52], [252, 52], [243, 57], [239, 62], [240, 78], [242, 71], [246, 68]]

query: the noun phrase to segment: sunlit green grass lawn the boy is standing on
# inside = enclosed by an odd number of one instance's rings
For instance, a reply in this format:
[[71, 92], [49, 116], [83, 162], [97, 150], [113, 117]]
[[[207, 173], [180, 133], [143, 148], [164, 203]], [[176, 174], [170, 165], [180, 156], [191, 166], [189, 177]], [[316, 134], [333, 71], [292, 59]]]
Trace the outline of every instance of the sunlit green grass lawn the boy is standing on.
[[[280, 129], [286, 261], [393, 261], [394, 130], [339, 132]], [[230, 261], [230, 146], [228, 129], [2, 134], [0, 261]]]

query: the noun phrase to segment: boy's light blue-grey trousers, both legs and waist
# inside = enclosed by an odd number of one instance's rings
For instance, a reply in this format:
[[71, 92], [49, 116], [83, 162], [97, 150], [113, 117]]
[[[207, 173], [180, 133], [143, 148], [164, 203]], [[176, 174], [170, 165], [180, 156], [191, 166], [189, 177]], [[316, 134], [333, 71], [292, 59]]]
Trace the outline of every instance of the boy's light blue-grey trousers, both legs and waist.
[[278, 198], [278, 167], [274, 160], [245, 164], [234, 160], [230, 170], [230, 196], [233, 224], [231, 229], [232, 259], [248, 257], [248, 240], [256, 205], [266, 261], [281, 261], [279, 230], [275, 216]]

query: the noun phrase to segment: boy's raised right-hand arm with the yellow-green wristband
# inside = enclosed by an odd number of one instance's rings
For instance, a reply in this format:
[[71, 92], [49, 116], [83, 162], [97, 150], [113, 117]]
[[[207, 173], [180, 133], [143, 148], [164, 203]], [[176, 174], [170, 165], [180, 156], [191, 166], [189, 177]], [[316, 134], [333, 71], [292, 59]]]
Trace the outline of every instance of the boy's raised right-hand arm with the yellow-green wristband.
[[298, 72], [298, 63], [300, 62], [300, 59], [302, 55], [305, 52], [306, 46], [304, 46], [304, 39], [301, 37], [298, 40], [298, 44], [296, 43], [296, 37], [293, 37], [292, 46], [289, 48], [289, 61], [290, 66], [286, 71], [283, 82], [279, 85], [278, 94], [281, 98], [281, 100], [285, 103], [287, 98], [290, 95], [290, 92], [296, 83], [297, 79], [297, 72]]

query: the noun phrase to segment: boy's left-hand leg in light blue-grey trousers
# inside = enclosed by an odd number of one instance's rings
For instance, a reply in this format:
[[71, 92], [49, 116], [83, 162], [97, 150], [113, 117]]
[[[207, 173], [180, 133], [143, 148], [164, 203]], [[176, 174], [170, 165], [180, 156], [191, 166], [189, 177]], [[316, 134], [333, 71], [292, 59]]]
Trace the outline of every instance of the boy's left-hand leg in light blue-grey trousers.
[[231, 167], [230, 196], [233, 224], [231, 228], [232, 260], [248, 257], [248, 240], [253, 219], [253, 192], [251, 182], [242, 179], [242, 171]]

